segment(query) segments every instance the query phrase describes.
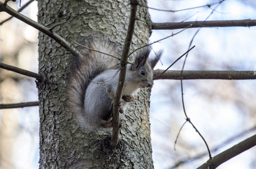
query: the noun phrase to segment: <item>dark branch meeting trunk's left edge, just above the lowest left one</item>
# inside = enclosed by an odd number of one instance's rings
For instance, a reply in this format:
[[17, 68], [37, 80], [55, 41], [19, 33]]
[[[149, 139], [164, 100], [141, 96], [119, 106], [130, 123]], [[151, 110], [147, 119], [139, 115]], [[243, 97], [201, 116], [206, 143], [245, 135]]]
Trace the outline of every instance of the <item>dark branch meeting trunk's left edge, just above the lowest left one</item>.
[[40, 75], [40, 74], [30, 72], [28, 70], [20, 69], [20, 68], [17, 68], [15, 66], [0, 63], [0, 68], [6, 69], [6, 70], [11, 70], [12, 72], [16, 72], [16, 73], [19, 73], [19, 74], [27, 75], [28, 77], [33, 77], [33, 78], [36, 78], [37, 80], [42, 81], [42, 79], [43, 79], [42, 75]]

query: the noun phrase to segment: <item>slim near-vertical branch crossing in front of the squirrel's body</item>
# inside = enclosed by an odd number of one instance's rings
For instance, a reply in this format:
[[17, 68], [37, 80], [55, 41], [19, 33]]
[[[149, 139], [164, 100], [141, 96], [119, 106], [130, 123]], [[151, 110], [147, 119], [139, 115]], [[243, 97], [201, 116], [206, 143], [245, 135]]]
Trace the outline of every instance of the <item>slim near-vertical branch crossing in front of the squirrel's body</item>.
[[136, 11], [137, 11], [138, 2], [136, 0], [131, 0], [131, 12], [130, 12], [130, 20], [129, 26], [127, 30], [127, 35], [125, 39], [125, 44], [123, 45], [123, 51], [121, 56], [121, 69], [120, 75], [118, 79], [118, 86], [116, 89], [116, 95], [114, 96], [114, 104], [113, 104], [113, 132], [111, 136], [111, 146], [116, 146], [118, 143], [118, 135], [120, 132], [120, 115], [119, 115], [119, 104], [121, 100], [121, 93], [123, 89], [123, 83], [125, 82], [126, 68], [127, 68], [127, 60], [129, 56], [129, 50], [131, 46], [131, 39], [133, 38], [134, 25], [136, 19]]

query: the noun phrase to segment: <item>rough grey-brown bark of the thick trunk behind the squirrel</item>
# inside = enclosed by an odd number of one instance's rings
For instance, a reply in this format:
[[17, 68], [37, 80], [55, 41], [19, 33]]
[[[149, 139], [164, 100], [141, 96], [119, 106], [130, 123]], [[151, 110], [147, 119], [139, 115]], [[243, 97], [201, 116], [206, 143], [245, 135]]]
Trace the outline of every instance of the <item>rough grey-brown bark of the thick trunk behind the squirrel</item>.
[[[142, 0], [143, 1], [143, 0]], [[140, 2], [146, 5], [146, 2]], [[129, 1], [38, 1], [38, 21], [48, 26], [66, 21], [54, 31], [68, 42], [101, 33], [120, 49], [126, 37]], [[121, 8], [120, 10], [117, 10]], [[132, 49], [148, 42], [151, 21], [147, 8], [139, 7]], [[40, 113], [40, 168], [153, 168], [149, 127], [149, 91], [143, 90], [125, 117], [116, 149], [109, 148], [111, 130], [84, 131], [65, 105], [72, 55], [39, 33], [38, 83]]]

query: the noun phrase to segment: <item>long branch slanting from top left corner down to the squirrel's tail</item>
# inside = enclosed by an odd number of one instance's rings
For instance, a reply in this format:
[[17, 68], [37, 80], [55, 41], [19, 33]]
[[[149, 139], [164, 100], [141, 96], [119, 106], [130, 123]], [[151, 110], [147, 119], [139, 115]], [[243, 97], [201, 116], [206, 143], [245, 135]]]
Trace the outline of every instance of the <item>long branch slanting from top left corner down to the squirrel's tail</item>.
[[56, 34], [55, 32], [52, 32], [50, 29], [46, 28], [45, 26], [37, 23], [36, 21], [33, 21], [32, 19], [29, 19], [27, 16], [24, 16], [20, 14], [19, 12], [12, 9], [10, 6], [5, 5], [4, 3], [0, 2], [0, 11], [5, 11], [6, 13], [10, 14], [11, 16], [16, 17], [17, 19], [23, 21], [24, 23], [32, 26], [33, 28], [36, 28], [40, 32], [48, 35], [52, 39], [54, 39], [57, 43], [59, 43], [61, 46], [63, 46], [66, 50], [68, 50], [72, 55], [77, 57], [83, 57], [80, 52], [76, 50], [70, 43], [65, 41], [60, 35]]

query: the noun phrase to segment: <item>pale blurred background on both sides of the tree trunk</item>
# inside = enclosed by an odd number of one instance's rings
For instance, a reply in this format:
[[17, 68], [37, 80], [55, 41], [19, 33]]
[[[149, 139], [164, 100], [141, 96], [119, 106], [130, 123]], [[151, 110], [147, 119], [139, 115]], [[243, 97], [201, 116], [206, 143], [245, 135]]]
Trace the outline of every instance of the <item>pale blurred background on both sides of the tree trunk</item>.
[[[3, 2], [1, 0], [1, 2]], [[27, 1], [22, 1], [23, 6]], [[154, 1], [148, 6], [153, 23], [256, 19], [256, 2], [253, 0], [218, 1]], [[18, 9], [20, 2], [8, 5]], [[215, 3], [215, 5], [211, 5]], [[209, 5], [209, 6], [205, 6]], [[25, 8], [22, 14], [37, 20], [37, 2]], [[0, 13], [0, 23], [9, 17]], [[167, 37], [176, 30], [153, 30], [151, 42]], [[198, 28], [182, 33], [153, 45], [154, 50], [164, 49], [162, 63], [156, 69], [165, 69], [188, 50], [189, 43]], [[17, 19], [0, 25], [0, 61], [38, 71], [38, 32]], [[184, 70], [255, 70], [256, 28], [201, 28], [193, 39], [196, 47], [189, 52]], [[184, 58], [170, 70], [181, 70]], [[156, 80], [151, 95], [151, 137], [155, 168], [196, 168], [208, 159], [204, 142], [191, 124], [186, 123], [182, 107], [180, 81]], [[184, 80], [184, 105], [188, 117], [207, 141], [211, 155], [239, 143], [255, 134], [256, 82], [254, 80]], [[37, 101], [34, 79], [0, 69], [0, 103]], [[0, 168], [38, 168], [39, 117], [38, 108], [0, 110]], [[228, 141], [229, 140], [229, 141]], [[175, 150], [174, 150], [175, 146]], [[218, 168], [256, 168], [256, 148], [237, 155]], [[205, 154], [205, 155], [201, 155]]]

